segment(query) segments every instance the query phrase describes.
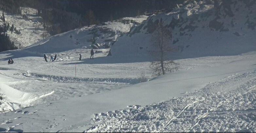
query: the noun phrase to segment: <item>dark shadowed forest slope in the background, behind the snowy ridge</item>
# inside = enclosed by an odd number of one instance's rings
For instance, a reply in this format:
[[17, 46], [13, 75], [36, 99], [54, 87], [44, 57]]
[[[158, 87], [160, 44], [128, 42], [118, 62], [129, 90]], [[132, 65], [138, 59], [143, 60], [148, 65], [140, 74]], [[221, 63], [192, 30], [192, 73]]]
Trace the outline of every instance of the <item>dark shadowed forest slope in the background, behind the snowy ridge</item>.
[[20, 7], [36, 8], [38, 15], [43, 18], [43, 27], [51, 35], [55, 35], [122, 17], [135, 17], [162, 9], [172, 10], [182, 2], [183, 0], [0, 0], [0, 9], [21, 14]]

